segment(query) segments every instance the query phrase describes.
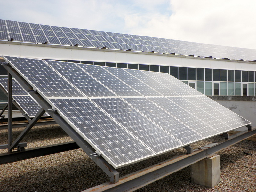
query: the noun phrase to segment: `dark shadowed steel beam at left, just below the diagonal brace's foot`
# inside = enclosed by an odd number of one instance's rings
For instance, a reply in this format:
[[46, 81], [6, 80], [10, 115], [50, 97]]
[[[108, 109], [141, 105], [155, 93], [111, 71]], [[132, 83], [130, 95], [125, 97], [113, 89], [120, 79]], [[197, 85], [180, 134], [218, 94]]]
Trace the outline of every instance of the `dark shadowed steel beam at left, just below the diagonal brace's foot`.
[[60, 153], [64, 151], [70, 151], [74, 149], [80, 148], [76, 142], [66, 142], [66, 143], [59, 143], [55, 145], [48, 145], [43, 147], [37, 148], [30, 148], [26, 149], [25, 151], [21, 152], [13, 152], [13, 153], [2, 153], [0, 154], [0, 165], [12, 163], [16, 161], [21, 161], [25, 159], [30, 159], [34, 157], [40, 157], [45, 155], [50, 155], [54, 153]]

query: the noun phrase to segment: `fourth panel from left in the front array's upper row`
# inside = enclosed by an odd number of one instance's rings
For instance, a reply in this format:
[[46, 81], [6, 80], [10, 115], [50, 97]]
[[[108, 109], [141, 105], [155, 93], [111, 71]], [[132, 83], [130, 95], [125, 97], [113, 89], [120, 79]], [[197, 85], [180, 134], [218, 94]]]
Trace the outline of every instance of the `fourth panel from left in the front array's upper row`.
[[105, 69], [144, 96], [161, 96], [161, 94], [156, 92], [156, 90], [136, 79], [122, 68], [105, 67]]

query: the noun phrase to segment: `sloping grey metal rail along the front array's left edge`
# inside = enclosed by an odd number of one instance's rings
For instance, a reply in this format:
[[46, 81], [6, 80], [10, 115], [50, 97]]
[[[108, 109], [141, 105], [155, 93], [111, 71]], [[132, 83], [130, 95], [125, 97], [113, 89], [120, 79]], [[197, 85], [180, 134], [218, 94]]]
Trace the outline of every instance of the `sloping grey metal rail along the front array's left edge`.
[[[42, 108], [49, 113], [49, 115], [60, 125], [60, 127], [82, 148], [85, 153], [92, 158], [91, 154], [95, 153], [93, 149], [83, 138], [79, 135], [58, 113], [52, 110], [51, 105], [36, 91], [33, 87], [28, 84], [28, 82], [20, 76], [20, 74], [15, 71], [9, 64], [2, 63], [2, 66], [10, 73], [25, 90], [29, 90], [29, 94], [42, 106]], [[8, 91], [9, 92], [9, 91]], [[11, 145], [10, 145], [11, 146]], [[116, 183], [119, 181], [119, 172], [116, 171], [103, 157], [93, 156], [92, 160], [105, 172], [111, 183]]]

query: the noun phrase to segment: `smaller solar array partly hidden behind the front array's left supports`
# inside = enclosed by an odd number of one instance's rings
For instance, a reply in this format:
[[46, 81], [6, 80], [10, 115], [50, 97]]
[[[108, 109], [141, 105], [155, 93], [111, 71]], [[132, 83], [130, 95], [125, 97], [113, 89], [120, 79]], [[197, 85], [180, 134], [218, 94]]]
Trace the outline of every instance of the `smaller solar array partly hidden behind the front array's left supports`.
[[[7, 78], [0, 78], [0, 86], [5, 92], [8, 92], [7, 81]], [[30, 118], [35, 117], [42, 108], [15, 79], [12, 79], [12, 99]], [[45, 112], [43, 116], [49, 115]]]

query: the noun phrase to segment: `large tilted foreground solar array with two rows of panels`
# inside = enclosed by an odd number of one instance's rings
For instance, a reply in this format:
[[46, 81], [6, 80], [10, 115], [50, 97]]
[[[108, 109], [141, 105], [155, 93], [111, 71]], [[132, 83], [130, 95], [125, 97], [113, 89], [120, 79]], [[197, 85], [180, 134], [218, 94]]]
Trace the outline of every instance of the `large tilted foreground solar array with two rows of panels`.
[[168, 74], [3, 57], [114, 168], [250, 124]]

